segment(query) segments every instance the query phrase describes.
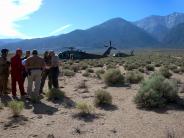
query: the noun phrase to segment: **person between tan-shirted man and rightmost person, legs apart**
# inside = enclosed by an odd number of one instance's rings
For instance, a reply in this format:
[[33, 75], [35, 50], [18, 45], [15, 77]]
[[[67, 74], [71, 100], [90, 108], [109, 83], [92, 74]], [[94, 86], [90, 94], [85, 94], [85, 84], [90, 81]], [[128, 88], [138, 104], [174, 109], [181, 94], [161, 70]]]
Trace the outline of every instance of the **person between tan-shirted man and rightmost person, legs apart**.
[[51, 67], [51, 55], [48, 51], [44, 53], [44, 61], [45, 61], [45, 69], [42, 72], [41, 86], [40, 86], [40, 94], [43, 93], [43, 87], [45, 85], [45, 80], [48, 77], [48, 87], [52, 88], [51, 75], [50, 75], [50, 67]]

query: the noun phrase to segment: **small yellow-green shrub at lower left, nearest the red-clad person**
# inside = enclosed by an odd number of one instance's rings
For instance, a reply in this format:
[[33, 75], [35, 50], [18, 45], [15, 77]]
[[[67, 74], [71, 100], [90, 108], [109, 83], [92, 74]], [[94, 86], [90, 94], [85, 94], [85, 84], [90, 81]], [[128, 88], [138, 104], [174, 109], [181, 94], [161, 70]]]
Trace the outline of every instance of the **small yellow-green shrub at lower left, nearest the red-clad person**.
[[8, 107], [12, 111], [13, 116], [17, 117], [24, 109], [24, 103], [21, 101], [11, 101], [8, 103]]

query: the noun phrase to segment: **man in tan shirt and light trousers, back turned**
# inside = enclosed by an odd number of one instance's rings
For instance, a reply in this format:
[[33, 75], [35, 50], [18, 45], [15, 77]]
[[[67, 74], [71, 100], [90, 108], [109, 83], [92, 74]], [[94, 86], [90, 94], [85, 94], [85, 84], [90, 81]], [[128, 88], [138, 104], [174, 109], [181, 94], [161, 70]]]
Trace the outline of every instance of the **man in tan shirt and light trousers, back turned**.
[[26, 70], [28, 71], [28, 95], [32, 94], [33, 82], [35, 83], [34, 93], [39, 95], [42, 70], [45, 68], [44, 59], [38, 56], [38, 51], [33, 50], [32, 56], [26, 60]]

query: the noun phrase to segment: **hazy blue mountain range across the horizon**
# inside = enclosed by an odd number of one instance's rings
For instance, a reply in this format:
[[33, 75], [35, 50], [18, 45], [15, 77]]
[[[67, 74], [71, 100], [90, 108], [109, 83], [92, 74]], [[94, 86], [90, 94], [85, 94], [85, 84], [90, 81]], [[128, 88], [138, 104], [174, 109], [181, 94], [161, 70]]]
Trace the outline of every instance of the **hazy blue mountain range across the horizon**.
[[184, 48], [184, 13], [167, 16], [152, 15], [130, 22], [122, 18], [110, 19], [86, 30], [36, 39], [0, 39], [0, 48], [62, 51], [65, 47], [100, 50], [111, 40], [118, 49]]

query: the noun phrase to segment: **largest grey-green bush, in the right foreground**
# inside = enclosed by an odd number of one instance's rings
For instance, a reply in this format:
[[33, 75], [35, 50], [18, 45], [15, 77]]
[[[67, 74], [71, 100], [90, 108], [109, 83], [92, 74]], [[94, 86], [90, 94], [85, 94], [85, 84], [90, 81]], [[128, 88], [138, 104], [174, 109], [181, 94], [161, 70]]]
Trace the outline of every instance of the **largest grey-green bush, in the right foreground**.
[[176, 82], [155, 74], [142, 83], [134, 101], [143, 108], [164, 107], [176, 100], [177, 92]]

